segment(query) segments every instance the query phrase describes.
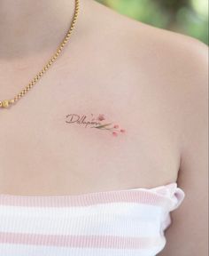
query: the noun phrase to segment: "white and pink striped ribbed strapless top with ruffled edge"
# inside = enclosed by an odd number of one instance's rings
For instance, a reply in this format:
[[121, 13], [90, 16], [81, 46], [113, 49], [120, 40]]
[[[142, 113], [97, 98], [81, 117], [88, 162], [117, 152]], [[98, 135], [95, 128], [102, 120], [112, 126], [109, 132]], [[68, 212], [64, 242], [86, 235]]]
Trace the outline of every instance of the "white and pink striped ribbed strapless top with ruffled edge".
[[154, 256], [166, 245], [176, 183], [76, 196], [0, 196], [2, 256]]

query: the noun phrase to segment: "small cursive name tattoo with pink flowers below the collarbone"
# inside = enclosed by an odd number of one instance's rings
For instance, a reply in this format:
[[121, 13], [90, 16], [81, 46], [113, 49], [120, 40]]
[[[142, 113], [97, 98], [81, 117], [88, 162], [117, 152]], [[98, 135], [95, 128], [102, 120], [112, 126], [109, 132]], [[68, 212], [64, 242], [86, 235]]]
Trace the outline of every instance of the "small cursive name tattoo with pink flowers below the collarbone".
[[80, 124], [84, 125], [85, 128], [95, 128], [103, 131], [111, 132], [112, 136], [117, 137], [120, 133], [125, 133], [126, 130], [121, 128], [119, 124], [105, 123], [104, 114], [99, 114], [94, 117], [91, 114], [91, 118], [87, 120], [85, 115], [69, 114], [66, 116], [66, 124]]

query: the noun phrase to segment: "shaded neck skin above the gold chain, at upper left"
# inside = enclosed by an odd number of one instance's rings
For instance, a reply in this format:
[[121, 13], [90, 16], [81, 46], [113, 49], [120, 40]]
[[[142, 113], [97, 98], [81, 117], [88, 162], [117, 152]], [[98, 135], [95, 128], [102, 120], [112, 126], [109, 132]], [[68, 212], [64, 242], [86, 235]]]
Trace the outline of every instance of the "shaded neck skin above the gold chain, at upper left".
[[66, 36], [74, 0], [0, 0], [0, 58], [55, 49]]

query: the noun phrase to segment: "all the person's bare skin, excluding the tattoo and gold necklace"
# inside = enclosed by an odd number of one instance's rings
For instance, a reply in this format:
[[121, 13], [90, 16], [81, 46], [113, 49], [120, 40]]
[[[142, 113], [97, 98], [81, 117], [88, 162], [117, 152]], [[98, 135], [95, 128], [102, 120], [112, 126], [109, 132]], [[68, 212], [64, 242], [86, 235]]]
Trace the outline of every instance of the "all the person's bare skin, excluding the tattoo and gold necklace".
[[[40, 71], [69, 27], [73, 0], [38, 2], [0, 0], [0, 100]], [[63, 54], [26, 97], [0, 109], [0, 194], [77, 195], [177, 181], [186, 197], [159, 255], [205, 256], [207, 100], [205, 44], [81, 1]], [[66, 124], [69, 114], [103, 114], [126, 132]]]

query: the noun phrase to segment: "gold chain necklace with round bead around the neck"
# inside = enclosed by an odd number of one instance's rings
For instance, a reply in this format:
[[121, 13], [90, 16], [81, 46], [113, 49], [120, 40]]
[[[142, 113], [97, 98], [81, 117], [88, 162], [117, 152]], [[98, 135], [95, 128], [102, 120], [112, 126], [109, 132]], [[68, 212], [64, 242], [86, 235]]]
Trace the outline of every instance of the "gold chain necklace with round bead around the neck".
[[79, 0], [75, 0], [73, 21], [71, 23], [69, 30], [66, 33], [65, 38], [63, 39], [62, 43], [58, 46], [58, 50], [52, 55], [52, 57], [47, 62], [47, 64], [43, 67], [43, 69], [31, 80], [29, 84], [27, 84], [27, 86], [22, 91], [19, 92], [19, 94], [17, 94], [12, 100], [0, 100], [0, 108], [9, 108], [12, 104], [14, 104], [18, 100], [20, 100], [23, 96], [25, 96], [25, 94], [27, 94], [27, 92], [29, 92], [30, 89], [33, 88], [33, 86], [40, 80], [40, 78], [48, 70], [48, 68], [50, 68], [51, 64], [58, 58], [58, 55], [60, 54], [60, 52], [62, 52], [64, 46], [68, 42], [68, 39], [70, 38], [74, 30], [74, 26], [78, 19], [78, 14], [80, 9], [79, 4], [80, 4]]

